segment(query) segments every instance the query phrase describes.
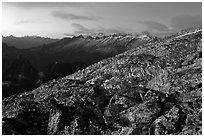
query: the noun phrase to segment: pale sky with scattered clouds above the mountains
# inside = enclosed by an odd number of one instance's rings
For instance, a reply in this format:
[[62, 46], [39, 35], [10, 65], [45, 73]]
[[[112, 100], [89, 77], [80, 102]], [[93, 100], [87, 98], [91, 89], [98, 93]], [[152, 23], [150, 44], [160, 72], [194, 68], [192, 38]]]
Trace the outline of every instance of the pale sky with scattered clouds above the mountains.
[[63, 38], [143, 31], [163, 35], [201, 26], [201, 2], [2, 3], [4, 36]]

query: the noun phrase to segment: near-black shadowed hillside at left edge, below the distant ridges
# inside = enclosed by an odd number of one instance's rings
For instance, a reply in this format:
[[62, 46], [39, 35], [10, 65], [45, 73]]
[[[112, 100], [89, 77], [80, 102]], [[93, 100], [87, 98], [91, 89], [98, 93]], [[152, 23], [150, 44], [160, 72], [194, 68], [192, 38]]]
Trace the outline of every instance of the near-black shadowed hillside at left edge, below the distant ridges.
[[19, 49], [2, 43], [2, 51], [2, 98], [39, 86], [38, 71], [19, 54]]

